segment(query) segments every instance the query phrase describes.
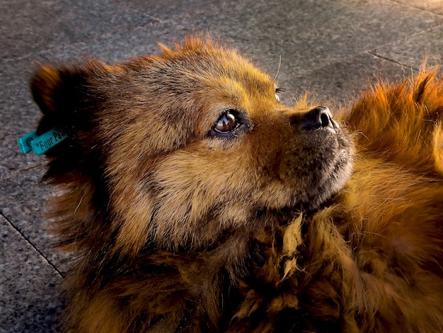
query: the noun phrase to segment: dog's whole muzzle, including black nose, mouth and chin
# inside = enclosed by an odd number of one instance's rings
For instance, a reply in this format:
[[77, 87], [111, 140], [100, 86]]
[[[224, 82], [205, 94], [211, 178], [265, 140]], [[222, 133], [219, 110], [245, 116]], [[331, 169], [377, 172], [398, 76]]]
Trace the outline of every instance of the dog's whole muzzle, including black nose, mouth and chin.
[[257, 191], [258, 202], [272, 209], [313, 210], [350, 179], [352, 142], [328, 108], [287, 116], [290, 127], [282, 130], [277, 149], [269, 153], [258, 148], [264, 152], [258, 161], [266, 179]]

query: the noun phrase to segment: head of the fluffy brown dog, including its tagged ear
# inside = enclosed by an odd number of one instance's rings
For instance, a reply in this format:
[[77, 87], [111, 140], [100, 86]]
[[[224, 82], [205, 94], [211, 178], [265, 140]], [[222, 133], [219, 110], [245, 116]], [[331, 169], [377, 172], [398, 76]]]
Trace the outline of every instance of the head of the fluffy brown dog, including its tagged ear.
[[211, 41], [162, 48], [35, 73], [38, 131], [69, 132], [47, 153], [48, 178], [69, 187], [64, 214], [91, 230], [105, 216], [101, 232], [127, 252], [197, 247], [253, 227], [260, 211], [316, 208], [344, 186], [352, 148], [328, 108], [282, 105], [275, 81]]

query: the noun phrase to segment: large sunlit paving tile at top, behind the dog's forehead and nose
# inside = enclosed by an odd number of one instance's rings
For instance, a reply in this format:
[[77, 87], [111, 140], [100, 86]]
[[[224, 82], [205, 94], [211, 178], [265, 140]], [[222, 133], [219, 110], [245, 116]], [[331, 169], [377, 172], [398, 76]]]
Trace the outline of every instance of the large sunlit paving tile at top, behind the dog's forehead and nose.
[[388, 0], [124, 2], [157, 18], [174, 13], [180, 24], [232, 41], [253, 59], [276, 64], [281, 55], [299, 74], [443, 23], [442, 16]]

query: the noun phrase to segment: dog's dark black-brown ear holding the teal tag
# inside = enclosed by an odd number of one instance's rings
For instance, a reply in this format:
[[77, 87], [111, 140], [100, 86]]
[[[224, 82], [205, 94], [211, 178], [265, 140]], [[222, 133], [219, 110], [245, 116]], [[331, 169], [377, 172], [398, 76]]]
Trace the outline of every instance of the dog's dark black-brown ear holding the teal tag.
[[40, 66], [35, 71], [30, 89], [42, 112], [37, 135], [57, 130], [65, 136], [45, 152], [50, 157], [46, 180], [74, 171], [88, 176], [98, 173], [100, 148], [93, 124], [103, 101], [98, 81], [108, 72], [96, 60], [74, 66]]

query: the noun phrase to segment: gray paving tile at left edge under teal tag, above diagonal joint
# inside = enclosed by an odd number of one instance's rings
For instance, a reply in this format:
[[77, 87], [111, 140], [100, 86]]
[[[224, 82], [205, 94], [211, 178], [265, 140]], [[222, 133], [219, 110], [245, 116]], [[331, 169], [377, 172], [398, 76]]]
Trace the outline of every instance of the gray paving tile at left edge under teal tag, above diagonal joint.
[[1, 179], [0, 213], [59, 271], [66, 271], [69, 256], [54, 249], [54, 235], [47, 231], [45, 204], [52, 188], [38, 184], [43, 172], [38, 166]]

